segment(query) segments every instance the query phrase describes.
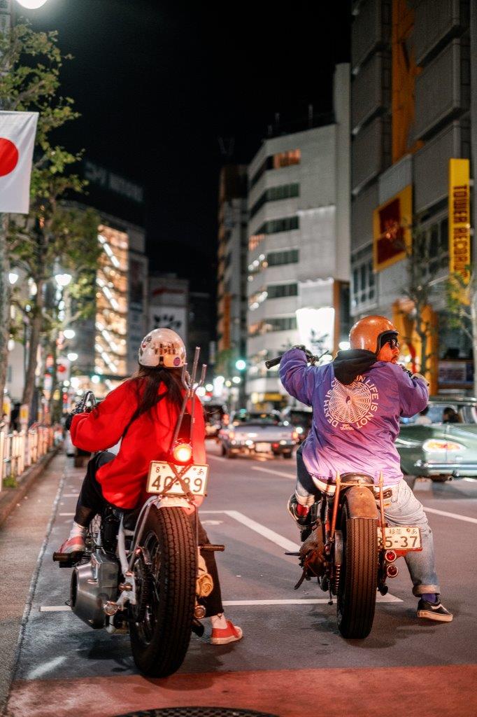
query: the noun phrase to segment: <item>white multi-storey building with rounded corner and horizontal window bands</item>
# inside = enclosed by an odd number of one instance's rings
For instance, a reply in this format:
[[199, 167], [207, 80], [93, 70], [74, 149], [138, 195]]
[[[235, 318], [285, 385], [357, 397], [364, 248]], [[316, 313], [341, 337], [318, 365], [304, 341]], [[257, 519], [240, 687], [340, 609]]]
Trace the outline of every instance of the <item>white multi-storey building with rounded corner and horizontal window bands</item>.
[[337, 65], [334, 115], [267, 138], [249, 165], [246, 394], [259, 407], [287, 400], [267, 357], [295, 343], [333, 351], [347, 337], [349, 74]]

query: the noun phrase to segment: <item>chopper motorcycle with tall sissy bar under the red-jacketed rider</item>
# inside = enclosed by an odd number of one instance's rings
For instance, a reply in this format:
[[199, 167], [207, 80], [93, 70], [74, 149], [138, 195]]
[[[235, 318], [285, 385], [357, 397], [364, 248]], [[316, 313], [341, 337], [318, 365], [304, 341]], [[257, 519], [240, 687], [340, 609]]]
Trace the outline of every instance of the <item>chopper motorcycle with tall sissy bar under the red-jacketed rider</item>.
[[[198, 544], [193, 498], [206, 495], [208, 465], [193, 462], [193, 408], [206, 366], [196, 382], [196, 348], [191, 376], [183, 366], [185, 389], [170, 446], [170, 460], [153, 461], [147, 478], [150, 497], [132, 513], [106, 508], [87, 530], [84, 553], [54, 553], [60, 567], [72, 568], [69, 605], [95, 630], [129, 632], [135, 664], [162, 678], [183, 663], [191, 633], [203, 634], [201, 599], [213, 589], [203, 551], [223, 545]], [[79, 409], [95, 404], [88, 391]], [[187, 404], [191, 402], [191, 414]], [[188, 516], [184, 508], [194, 508]]]

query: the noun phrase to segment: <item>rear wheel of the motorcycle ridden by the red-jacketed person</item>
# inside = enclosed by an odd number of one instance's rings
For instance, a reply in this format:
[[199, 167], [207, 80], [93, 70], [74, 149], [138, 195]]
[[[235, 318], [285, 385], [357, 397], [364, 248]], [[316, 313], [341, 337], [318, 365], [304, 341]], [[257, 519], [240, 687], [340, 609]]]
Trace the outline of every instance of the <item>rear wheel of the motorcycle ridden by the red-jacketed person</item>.
[[182, 665], [191, 640], [197, 560], [191, 521], [182, 508], [150, 508], [140, 546], [133, 568], [133, 657], [145, 675], [167, 677]]

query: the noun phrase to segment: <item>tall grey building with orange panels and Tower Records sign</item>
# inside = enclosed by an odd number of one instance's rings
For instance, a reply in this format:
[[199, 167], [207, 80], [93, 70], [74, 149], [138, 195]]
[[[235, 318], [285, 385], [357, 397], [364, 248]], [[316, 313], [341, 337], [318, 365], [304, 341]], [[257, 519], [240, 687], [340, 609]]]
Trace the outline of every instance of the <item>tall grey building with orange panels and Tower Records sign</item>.
[[[475, 13], [475, 3], [460, 0], [352, 3], [351, 312], [394, 320], [401, 360], [426, 371], [431, 391], [473, 381], [471, 342], [443, 318], [459, 247], [461, 263], [470, 263]], [[462, 204], [465, 217], [456, 213]], [[420, 284], [435, 287], [420, 311], [410, 280], [416, 262]]]

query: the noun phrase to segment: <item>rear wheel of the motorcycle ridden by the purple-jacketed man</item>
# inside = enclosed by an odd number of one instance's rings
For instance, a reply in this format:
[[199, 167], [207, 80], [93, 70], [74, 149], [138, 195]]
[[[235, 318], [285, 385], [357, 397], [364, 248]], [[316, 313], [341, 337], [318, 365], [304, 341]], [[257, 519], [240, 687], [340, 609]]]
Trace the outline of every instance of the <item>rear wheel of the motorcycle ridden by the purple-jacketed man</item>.
[[377, 589], [376, 521], [352, 518], [344, 498], [341, 514], [343, 561], [337, 594], [338, 628], [343, 637], [361, 640], [370, 634]]

